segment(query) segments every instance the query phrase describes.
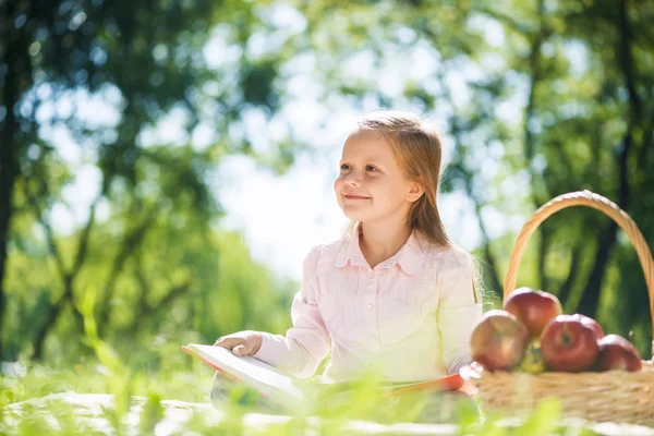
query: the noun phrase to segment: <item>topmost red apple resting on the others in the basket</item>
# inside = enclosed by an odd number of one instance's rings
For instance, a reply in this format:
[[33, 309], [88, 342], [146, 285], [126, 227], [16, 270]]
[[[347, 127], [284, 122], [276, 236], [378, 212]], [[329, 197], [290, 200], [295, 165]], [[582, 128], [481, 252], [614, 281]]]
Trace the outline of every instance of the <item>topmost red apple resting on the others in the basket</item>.
[[564, 313], [559, 300], [547, 292], [519, 288], [509, 294], [504, 310], [524, 324], [532, 338], [538, 338], [552, 319]]

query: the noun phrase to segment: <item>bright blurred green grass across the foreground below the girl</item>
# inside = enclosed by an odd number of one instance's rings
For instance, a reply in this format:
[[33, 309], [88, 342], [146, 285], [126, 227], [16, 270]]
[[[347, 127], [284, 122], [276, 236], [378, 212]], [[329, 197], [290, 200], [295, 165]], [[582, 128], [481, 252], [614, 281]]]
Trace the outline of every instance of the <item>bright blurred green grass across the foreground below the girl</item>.
[[[253, 421], [254, 413], [262, 413], [257, 404], [261, 401], [258, 393], [234, 389], [219, 411], [210, 409], [210, 368], [183, 355], [177, 344], [155, 349], [160, 354], [157, 365], [129, 364], [125, 356], [119, 355], [97, 337], [95, 322], [88, 315], [90, 307], [93, 298], [87, 298], [82, 304], [82, 312], [87, 314], [86, 342], [93, 349], [94, 358], [65, 368], [22, 362], [19, 367], [25, 371], [0, 374], [1, 435], [149, 435], [170, 424], [167, 415], [171, 410], [186, 414], [178, 428], [169, 427], [166, 434], [361, 434], [356, 422], [380, 423], [386, 425], [384, 428], [393, 432], [392, 425], [397, 423], [422, 422], [425, 419], [446, 421], [450, 424], [448, 428], [461, 435], [593, 434], [583, 425], [561, 425], [561, 408], [557, 400], [543, 401], [531, 415], [507, 425], [499, 415], [482, 415], [480, 419], [476, 404], [471, 401], [459, 402], [455, 407], [451, 398], [424, 393], [390, 400], [380, 398], [375, 393], [375, 384], [370, 380], [362, 382], [348, 395], [328, 395], [316, 400], [307, 404], [305, 411], [265, 420], [265, 416], [258, 415], [258, 421]], [[61, 392], [69, 392], [69, 396], [50, 396]], [[75, 398], [74, 393], [102, 396], [95, 397], [95, 402], [82, 397], [89, 403], [72, 405], [65, 398]], [[171, 400], [193, 404], [184, 408], [184, 404], [175, 405]], [[452, 408], [448, 410], [450, 405]], [[370, 433], [370, 427], [365, 433]]]

